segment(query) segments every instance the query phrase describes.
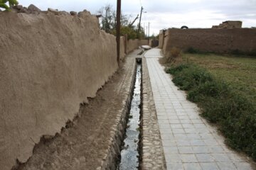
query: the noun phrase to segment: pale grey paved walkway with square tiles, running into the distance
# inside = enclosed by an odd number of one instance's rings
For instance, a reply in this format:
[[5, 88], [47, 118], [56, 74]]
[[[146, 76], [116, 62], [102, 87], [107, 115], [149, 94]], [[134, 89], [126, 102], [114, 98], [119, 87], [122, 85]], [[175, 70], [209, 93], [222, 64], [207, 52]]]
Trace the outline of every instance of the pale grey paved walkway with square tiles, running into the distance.
[[167, 169], [252, 169], [244, 157], [228, 149], [217, 130], [198, 114], [164, 72], [159, 49], [146, 52]]

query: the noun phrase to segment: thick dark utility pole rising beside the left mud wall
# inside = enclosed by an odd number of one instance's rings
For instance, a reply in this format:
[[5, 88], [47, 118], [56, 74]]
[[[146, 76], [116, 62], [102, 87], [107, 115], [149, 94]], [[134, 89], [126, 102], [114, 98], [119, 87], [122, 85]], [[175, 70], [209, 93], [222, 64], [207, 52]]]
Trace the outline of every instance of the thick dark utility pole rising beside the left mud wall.
[[121, 27], [121, 0], [117, 0], [117, 64], [120, 60], [120, 27]]

